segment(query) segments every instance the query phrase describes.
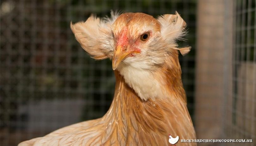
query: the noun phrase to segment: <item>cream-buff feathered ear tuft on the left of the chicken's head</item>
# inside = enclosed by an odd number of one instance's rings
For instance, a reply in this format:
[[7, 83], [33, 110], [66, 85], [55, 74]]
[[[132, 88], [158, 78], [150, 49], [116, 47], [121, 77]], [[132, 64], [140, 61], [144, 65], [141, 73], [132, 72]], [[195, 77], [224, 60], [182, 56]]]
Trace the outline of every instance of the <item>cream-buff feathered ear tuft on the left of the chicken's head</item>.
[[85, 22], [70, 23], [70, 28], [82, 48], [94, 59], [101, 60], [113, 56], [112, 24], [118, 17], [111, 12], [110, 18], [100, 19], [91, 15]]

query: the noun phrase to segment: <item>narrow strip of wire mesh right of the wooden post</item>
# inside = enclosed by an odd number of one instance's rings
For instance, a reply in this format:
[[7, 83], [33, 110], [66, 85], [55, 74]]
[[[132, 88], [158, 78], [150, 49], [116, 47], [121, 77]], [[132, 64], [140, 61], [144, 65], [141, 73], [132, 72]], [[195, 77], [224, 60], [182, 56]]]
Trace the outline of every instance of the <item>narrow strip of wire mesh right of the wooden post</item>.
[[232, 92], [228, 102], [227, 135], [256, 142], [256, 7], [255, 0], [234, 5]]

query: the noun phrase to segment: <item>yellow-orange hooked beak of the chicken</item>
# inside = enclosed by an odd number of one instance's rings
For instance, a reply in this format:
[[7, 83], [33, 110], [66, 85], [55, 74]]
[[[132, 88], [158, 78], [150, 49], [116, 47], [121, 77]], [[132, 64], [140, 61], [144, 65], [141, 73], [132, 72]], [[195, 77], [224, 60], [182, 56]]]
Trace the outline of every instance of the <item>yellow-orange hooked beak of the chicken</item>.
[[115, 70], [120, 62], [124, 60], [129, 54], [131, 54], [130, 51], [123, 51], [122, 46], [118, 45], [116, 49], [114, 50], [114, 55], [112, 59], [112, 68]]

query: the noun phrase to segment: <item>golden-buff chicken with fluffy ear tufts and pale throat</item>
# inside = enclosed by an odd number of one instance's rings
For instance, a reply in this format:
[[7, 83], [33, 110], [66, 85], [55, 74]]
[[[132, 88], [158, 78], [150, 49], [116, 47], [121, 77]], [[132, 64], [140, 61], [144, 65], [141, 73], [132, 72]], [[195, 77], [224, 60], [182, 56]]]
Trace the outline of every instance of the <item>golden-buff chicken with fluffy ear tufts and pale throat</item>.
[[[95, 59], [112, 60], [113, 102], [102, 118], [58, 129], [19, 146], [164, 146], [167, 136], [195, 139], [181, 82], [178, 48], [186, 23], [176, 12], [157, 19], [143, 13], [92, 15], [70, 24], [76, 40]], [[196, 143], [179, 143], [180, 146]]]

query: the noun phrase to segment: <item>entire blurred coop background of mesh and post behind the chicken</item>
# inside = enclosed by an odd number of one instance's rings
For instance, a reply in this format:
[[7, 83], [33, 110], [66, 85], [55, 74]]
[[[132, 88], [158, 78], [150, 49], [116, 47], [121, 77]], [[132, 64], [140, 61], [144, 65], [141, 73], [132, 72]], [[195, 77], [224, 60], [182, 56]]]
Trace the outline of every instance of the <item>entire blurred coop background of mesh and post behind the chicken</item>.
[[256, 144], [255, 0], [1, 0], [1, 146], [106, 113], [111, 61], [90, 58], [69, 25], [111, 9], [154, 17], [178, 11], [188, 25], [179, 45], [192, 46], [180, 65], [197, 138]]

